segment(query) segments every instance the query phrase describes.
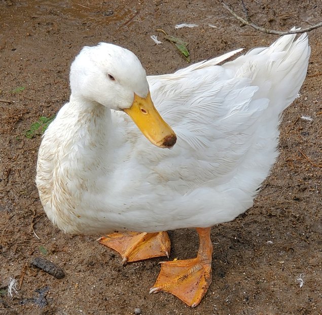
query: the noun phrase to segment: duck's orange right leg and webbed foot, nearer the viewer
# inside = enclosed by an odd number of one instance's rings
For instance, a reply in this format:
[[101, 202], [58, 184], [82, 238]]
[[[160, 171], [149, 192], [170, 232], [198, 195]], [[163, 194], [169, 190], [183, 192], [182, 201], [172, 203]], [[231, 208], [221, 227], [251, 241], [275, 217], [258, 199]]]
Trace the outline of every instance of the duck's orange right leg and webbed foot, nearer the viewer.
[[196, 258], [161, 262], [161, 271], [150, 293], [168, 292], [191, 307], [197, 306], [211, 283], [211, 228], [197, 228], [200, 245]]

